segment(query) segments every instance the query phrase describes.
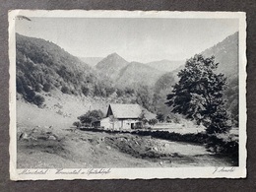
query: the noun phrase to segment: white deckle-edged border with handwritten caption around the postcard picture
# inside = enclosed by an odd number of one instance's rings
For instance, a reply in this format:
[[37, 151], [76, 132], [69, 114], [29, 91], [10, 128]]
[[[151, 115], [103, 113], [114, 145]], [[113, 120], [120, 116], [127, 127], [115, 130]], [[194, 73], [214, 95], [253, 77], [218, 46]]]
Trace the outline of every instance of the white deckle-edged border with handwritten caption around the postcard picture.
[[[239, 166], [170, 168], [74, 168], [17, 169], [16, 134], [16, 40], [15, 18], [198, 18], [239, 19]], [[246, 23], [242, 12], [168, 12], [168, 11], [84, 11], [84, 10], [13, 10], [9, 12], [9, 107], [10, 107], [10, 177], [12, 180], [55, 179], [154, 179], [154, 178], [244, 178], [246, 177]], [[57, 172], [57, 173], [56, 173]], [[62, 172], [62, 173], [60, 173]]]

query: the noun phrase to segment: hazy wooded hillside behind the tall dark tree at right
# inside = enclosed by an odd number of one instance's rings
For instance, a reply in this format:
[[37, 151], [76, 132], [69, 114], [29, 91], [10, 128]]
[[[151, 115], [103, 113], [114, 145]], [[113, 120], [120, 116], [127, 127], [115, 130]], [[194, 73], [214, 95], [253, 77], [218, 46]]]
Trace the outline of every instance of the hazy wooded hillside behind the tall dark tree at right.
[[[234, 124], [238, 122], [238, 32], [227, 36], [222, 42], [203, 51], [206, 57], [215, 56], [215, 61], [220, 63], [217, 72], [224, 73], [227, 78], [225, 96], [227, 109], [231, 112]], [[184, 63], [185, 64], [185, 63]], [[162, 113], [167, 114], [169, 108], [163, 102], [166, 94], [170, 93], [172, 86], [178, 82], [177, 73], [184, 68], [184, 65], [172, 72], [165, 73], [155, 85], [156, 107]]]

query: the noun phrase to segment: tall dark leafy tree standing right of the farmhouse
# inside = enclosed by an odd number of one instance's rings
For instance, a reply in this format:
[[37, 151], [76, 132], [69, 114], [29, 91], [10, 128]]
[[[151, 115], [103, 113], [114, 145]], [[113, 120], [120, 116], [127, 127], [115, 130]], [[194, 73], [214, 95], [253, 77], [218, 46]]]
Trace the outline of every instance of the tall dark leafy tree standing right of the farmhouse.
[[224, 99], [226, 78], [216, 73], [218, 65], [214, 56], [199, 54], [187, 60], [166, 102], [172, 112], [202, 123], [209, 134], [226, 133], [231, 127]]

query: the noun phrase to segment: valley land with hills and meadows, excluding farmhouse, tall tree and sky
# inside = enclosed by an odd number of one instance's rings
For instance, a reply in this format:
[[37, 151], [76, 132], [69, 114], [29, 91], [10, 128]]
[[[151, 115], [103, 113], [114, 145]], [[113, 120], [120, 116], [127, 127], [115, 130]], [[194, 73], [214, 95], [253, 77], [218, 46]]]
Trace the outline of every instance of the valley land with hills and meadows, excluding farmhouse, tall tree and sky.
[[[226, 110], [231, 112], [234, 127], [238, 123], [237, 38], [234, 33], [202, 53], [214, 54], [220, 62], [219, 72], [227, 77]], [[109, 103], [133, 103], [151, 118], [162, 113], [176, 121], [169, 132], [192, 133], [198, 126], [175, 116], [165, 104], [184, 64], [169, 60], [129, 62], [117, 53], [77, 58], [52, 42], [17, 33], [18, 167], [234, 165], [233, 160], [207, 151], [204, 145], [130, 133], [82, 131], [72, 125], [88, 111], [105, 114]]]

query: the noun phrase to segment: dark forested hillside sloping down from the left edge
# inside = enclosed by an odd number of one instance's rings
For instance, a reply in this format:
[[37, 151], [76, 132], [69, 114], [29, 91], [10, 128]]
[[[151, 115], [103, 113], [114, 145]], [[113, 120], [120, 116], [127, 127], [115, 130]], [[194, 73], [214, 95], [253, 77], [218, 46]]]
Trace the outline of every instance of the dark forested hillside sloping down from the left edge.
[[112, 83], [58, 45], [16, 34], [17, 92], [28, 101], [41, 91], [76, 96], [109, 96]]

